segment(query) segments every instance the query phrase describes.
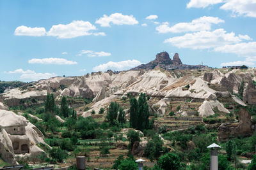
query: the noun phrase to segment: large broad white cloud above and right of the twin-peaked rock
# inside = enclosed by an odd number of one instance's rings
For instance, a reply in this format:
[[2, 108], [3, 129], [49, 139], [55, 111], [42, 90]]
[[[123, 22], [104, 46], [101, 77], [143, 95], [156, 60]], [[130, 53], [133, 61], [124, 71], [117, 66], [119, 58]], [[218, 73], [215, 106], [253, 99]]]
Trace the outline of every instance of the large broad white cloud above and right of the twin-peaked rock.
[[239, 43], [240, 41], [241, 38], [236, 36], [234, 32], [227, 33], [223, 29], [216, 29], [214, 31], [200, 31], [187, 33], [184, 36], [175, 36], [165, 39], [164, 43], [171, 43], [179, 48], [207, 49]]

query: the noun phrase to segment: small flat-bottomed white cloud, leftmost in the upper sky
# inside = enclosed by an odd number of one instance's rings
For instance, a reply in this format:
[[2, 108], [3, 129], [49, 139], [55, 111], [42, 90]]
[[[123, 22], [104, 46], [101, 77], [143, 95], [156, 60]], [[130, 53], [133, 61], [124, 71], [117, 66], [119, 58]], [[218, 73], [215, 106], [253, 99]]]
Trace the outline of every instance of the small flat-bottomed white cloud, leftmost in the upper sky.
[[44, 27], [26, 27], [24, 25], [15, 29], [15, 36], [45, 36]]

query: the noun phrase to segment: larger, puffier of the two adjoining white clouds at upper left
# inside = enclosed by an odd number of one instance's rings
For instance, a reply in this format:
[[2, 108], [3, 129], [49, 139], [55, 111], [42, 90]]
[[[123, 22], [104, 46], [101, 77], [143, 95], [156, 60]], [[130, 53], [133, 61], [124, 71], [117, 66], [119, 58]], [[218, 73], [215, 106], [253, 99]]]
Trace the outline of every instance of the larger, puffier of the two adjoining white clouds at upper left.
[[47, 32], [47, 36], [56, 36], [57, 38], [75, 38], [77, 36], [91, 35], [92, 30], [96, 27], [88, 21], [74, 20], [70, 24], [58, 24], [52, 25], [50, 31]]

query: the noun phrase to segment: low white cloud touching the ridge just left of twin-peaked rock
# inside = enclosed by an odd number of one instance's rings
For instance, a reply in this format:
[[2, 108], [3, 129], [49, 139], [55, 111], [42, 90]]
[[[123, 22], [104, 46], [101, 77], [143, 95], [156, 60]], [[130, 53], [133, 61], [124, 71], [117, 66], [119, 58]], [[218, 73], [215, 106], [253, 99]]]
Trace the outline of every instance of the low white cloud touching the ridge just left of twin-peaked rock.
[[131, 69], [132, 67], [139, 66], [141, 64], [138, 60], [124, 60], [120, 62], [109, 61], [105, 64], [100, 64], [99, 66], [93, 67], [94, 71], [107, 71], [112, 69], [115, 71], [122, 71], [125, 69]]

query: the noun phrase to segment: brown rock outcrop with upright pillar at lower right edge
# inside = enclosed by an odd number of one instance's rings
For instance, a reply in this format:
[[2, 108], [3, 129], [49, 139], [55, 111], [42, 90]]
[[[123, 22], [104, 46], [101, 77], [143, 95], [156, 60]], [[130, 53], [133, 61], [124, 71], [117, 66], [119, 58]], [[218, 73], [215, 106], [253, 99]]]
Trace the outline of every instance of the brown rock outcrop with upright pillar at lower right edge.
[[237, 136], [252, 136], [255, 125], [252, 124], [251, 115], [246, 108], [239, 110], [239, 123], [224, 123], [218, 127], [219, 140], [228, 141]]

